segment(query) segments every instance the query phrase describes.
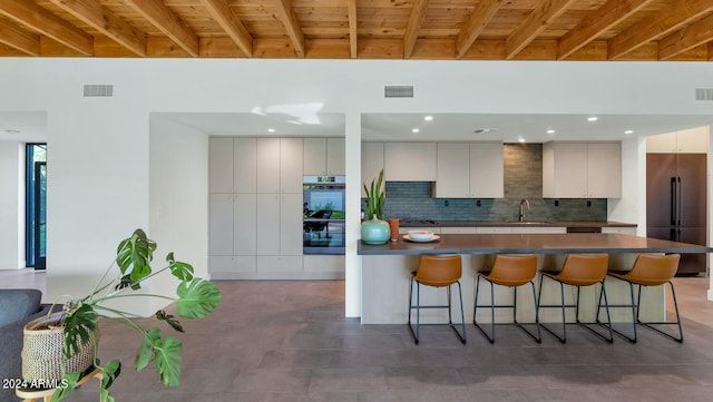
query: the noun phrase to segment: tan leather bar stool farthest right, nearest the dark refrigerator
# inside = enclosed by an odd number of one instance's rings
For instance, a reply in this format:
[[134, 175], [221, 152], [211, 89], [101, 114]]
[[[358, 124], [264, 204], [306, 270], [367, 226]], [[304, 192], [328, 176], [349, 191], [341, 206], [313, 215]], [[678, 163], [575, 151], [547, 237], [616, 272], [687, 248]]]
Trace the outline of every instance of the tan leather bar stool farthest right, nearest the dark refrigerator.
[[[652, 254], [641, 254], [636, 257], [636, 262], [634, 262], [634, 266], [632, 271], [627, 273], [616, 273], [609, 272], [608, 275], [615, 277], [621, 281], [625, 281], [628, 283], [629, 294], [632, 296], [631, 304], [617, 304], [611, 305], [611, 307], [631, 307], [632, 308], [632, 324], [634, 327], [634, 335], [628, 336], [619, 331], [615, 332], [629, 342], [636, 342], [636, 325], [643, 325], [648, 327], [649, 330], [654, 330], [660, 334], [663, 334], [674, 341], [683, 342], [683, 329], [681, 327], [681, 315], [678, 315], [678, 303], [676, 302], [676, 291], [673, 287], [673, 283], [671, 280], [678, 271], [678, 261], [681, 259], [681, 255], [678, 254], [668, 254], [668, 255], [652, 255]], [[671, 286], [671, 294], [673, 295], [673, 306], [676, 311], [676, 321], [675, 322], [642, 322], [639, 320], [639, 312], [642, 305], [642, 286], [662, 286], [668, 284]], [[634, 285], [638, 286], [638, 296], [636, 303], [634, 303]], [[666, 332], [661, 331], [657, 327], [652, 325], [677, 325], [678, 326], [678, 336], [671, 335]]]

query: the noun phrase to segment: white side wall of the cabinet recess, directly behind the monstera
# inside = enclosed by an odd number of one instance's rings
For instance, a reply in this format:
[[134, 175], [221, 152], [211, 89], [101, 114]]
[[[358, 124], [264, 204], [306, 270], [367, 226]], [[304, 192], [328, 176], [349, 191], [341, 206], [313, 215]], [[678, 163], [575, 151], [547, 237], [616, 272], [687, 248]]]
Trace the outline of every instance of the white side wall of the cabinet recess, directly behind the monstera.
[[[204, 133], [150, 117], [149, 135], [149, 237], [156, 241], [154, 269], [166, 266], [174, 252], [177, 261], [193, 265], [194, 274], [208, 275], [208, 137]], [[153, 281], [152, 293], [173, 294], [178, 282]], [[164, 306], [157, 300], [152, 310]]]

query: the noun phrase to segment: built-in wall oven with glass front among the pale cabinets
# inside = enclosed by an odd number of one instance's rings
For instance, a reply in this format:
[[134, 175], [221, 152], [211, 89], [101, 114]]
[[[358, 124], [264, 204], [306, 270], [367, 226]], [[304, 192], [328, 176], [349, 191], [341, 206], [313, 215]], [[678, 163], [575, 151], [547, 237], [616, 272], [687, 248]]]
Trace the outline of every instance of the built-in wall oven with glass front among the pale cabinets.
[[304, 176], [303, 254], [344, 254], [344, 176]]

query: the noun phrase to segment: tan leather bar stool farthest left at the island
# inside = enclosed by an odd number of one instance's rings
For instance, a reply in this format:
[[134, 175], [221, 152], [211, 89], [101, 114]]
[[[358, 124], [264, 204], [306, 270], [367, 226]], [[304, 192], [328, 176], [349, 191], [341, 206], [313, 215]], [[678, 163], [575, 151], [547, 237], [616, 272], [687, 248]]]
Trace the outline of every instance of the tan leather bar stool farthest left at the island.
[[[462, 266], [460, 255], [421, 255], [419, 261], [419, 267], [416, 272], [411, 273], [411, 284], [409, 288], [409, 329], [413, 335], [416, 344], [419, 343], [419, 327], [421, 326], [420, 316], [421, 308], [448, 308], [448, 324], [429, 324], [429, 325], [448, 325], [456, 331], [456, 335], [460, 341], [466, 343], [466, 320], [463, 318], [463, 296], [460, 287], [460, 276], [462, 274]], [[412, 303], [413, 296], [413, 282], [416, 282], [416, 305]], [[458, 284], [458, 294], [460, 296], [460, 321], [462, 332], [458, 332], [458, 329], [453, 324], [451, 318], [451, 297], [450, 286]], [[448, 294], [447, 305], [421, 305], [420, 288], [421, 285], [433, 287], [446, 287]], [[413, 325], [411, 325], [411, 311], [416, 308], [416, 332]], [[423, 324], [426, 325], [426, 324]]]

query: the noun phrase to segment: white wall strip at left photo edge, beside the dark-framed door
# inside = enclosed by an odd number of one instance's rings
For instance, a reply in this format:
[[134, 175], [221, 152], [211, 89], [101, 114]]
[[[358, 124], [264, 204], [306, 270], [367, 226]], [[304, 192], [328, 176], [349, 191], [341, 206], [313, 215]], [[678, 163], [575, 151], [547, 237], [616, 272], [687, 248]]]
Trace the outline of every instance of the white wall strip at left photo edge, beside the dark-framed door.
[[0, 141], [0, 269], [25, 267], [25, 153]]

